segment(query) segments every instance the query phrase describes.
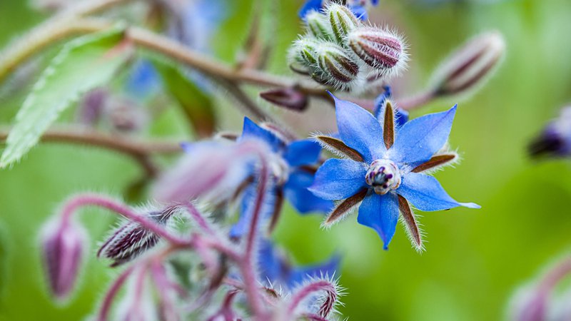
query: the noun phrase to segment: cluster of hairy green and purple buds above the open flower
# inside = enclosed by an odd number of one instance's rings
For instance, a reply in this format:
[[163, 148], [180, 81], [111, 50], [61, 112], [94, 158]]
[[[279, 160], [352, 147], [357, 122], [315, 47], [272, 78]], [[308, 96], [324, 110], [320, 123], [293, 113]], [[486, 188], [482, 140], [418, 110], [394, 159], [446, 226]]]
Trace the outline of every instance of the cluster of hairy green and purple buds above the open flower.
[[330, 4], [305, 16], [305, 35], [290, 48], [290, 68], [325, 86], [362, 91], [405, 68], [400, 36], [366, 25], [347, 6]]

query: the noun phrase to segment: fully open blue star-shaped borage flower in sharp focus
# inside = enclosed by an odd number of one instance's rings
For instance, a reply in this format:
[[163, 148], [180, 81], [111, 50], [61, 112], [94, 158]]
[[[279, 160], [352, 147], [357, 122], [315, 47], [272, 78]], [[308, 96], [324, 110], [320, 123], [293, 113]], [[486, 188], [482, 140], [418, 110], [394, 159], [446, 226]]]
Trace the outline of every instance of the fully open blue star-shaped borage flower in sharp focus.
[[316, 138], [345, 159], [326, 161], [309, 188], [320, 198], [340, 200], [323, 225], [337, 222], [360, 204], [358, 223], [373, 228], [388, 249], [400, 212], [413, 245], [421, 250], [420, 230], [408, 202], [423, 211], [480, 208], [458, 203], [438, 180], [423, 173], [457, 158], [444, 148], [456, 106], [398, 127], [390, 101], [385, 101], [377, 119], [355, 103], [333, 98], [340, 139]]

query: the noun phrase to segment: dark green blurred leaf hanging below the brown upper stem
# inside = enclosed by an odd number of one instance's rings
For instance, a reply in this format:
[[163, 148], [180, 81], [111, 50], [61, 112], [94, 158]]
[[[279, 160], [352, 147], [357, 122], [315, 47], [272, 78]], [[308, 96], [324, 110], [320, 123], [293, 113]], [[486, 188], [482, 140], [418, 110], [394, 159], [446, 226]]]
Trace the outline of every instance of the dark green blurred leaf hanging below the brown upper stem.
[[213, 101], [201, 88], [192, 83], [175, 65], [161, 58], [151, 57], [163, 79], [166, 91], [181, 106], [188, 123], [197, 136], [208, 137], [216, 129]]

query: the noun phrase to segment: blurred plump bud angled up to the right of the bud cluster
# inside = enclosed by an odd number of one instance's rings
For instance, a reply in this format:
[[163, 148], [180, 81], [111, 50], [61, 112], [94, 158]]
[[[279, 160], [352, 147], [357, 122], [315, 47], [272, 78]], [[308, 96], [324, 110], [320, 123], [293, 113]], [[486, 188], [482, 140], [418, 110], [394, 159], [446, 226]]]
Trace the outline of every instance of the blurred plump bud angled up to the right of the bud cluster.
[[502, 61], [505, 41], [496, 31], [480, 34], [445, 59], [433, 76], [435, 95], [470, 91], [490, 76]]

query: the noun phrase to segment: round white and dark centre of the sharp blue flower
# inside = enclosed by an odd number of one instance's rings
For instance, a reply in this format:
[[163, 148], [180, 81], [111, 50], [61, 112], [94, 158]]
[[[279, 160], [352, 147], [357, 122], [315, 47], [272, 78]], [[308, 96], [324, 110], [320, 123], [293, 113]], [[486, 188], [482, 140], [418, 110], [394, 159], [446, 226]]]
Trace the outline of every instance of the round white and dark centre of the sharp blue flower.
[[400, 170], [393, 161], [378, 159], [370, 163], [365, 181], [378, 195], [385, 195], [400, 186]]

